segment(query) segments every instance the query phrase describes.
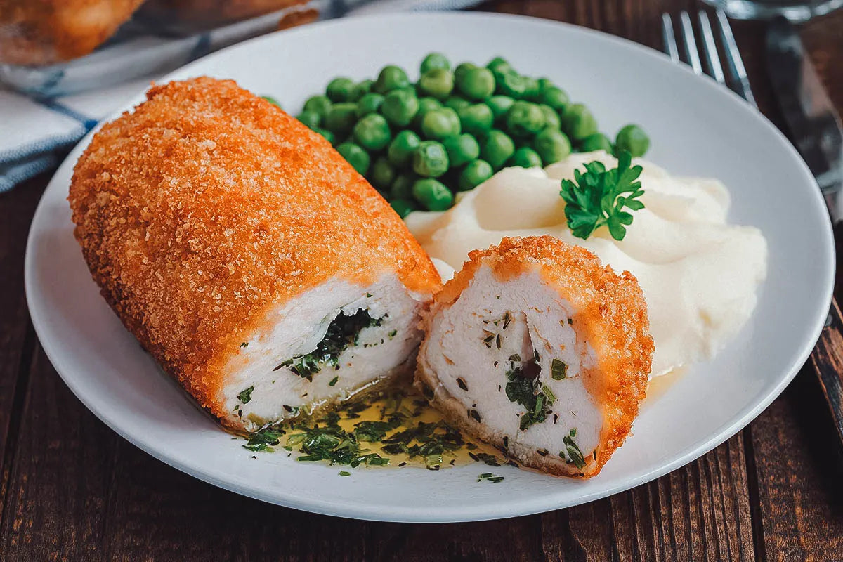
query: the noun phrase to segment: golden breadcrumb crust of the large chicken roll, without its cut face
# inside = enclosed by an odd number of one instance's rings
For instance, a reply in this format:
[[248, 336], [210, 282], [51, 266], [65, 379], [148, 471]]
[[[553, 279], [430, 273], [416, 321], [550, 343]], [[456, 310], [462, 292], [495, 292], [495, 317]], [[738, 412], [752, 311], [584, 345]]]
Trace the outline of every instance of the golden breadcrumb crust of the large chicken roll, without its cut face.
[[79, 158], [75, 234], [126, 328], [215, 415], [223, 366], [265, 311], [332, 277], [438, 289], [404, 222], [323, 136], [228, 80], [147, 98]]

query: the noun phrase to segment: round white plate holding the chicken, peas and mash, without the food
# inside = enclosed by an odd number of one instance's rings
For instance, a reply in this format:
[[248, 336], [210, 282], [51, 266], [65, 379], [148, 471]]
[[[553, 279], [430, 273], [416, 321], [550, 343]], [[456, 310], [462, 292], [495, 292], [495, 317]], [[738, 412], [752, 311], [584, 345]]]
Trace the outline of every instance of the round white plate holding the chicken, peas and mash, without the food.
[[808, 358], [829, 308], [833, 240], [811, 174], [787, 140], [737, 96], [655, 51], [539, 19], [480, 13], [405, 14], [314, 24], [207, 56], [171, 78], [234, 78], [298, 110], [337, 75], [372, 77], [396, 63], [417, 68], [428, 51], [452, 61], [502, 55], [584, 100], [601, 130], [626, 122], [652, 136], [647, 158], [676, 174], [722, 179], [731, 222], [760, 227], [770, 273], [753, 318], [715, 361], [696, 365], [647, 399], [635, 435], [602, 474], [555, 479], [485, 465], [356, 469], [252, 454], [155, 367], [99, 297], [72, 236], [67, 187], [82, 147], [46, 190], [30, 232], [26, 291], [35, 329], [67, 386], [95, 415], [154, 457], [211, 484], [282, 506], [384, 521], [513, 517], [573, 506], [655, 479], [745, 426]]

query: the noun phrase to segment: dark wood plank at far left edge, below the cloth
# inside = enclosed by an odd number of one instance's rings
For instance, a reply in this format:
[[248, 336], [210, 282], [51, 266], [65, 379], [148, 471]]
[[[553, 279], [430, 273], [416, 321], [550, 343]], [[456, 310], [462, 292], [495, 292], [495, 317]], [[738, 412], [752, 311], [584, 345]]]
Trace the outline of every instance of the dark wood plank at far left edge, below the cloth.
[[27, 363], [35, 344], [24, 297], [24, 249], [44, 185], [41, 176], [0, 195], [0, 513], [6, 505]]

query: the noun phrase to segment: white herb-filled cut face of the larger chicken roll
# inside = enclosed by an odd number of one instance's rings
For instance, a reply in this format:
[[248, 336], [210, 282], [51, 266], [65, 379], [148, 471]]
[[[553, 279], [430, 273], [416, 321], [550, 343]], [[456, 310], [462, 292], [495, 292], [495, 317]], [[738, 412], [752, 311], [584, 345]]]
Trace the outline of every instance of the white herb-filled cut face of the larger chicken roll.
[[255, 431], [410, 369], [422, 302], [392, 274], [326, 281], [271, 310], [226, 368], [229, 420]]

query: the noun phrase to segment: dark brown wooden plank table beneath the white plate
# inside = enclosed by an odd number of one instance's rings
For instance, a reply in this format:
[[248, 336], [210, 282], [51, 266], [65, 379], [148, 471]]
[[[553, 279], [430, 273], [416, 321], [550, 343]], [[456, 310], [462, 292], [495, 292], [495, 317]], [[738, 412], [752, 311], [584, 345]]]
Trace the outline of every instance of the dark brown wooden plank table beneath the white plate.
[[[660, 14], [681, 8], [695, 5], [481, 7], [583, 24], [656, 48]], [[760, 107], [780, 124], [762, 28], [734, 27]], [[808, 24], [803, 38], [843, 113], [843, 12]], [[350, 521], [250, 500], [169, 468], [79, 403], [32, 329], [24, 246], [48, 179], [0, 195], [0, 559], [843, 560], [843, 455], [810, 367], [749, 427], [694, 463], [544, 515], [451, 525]]]

